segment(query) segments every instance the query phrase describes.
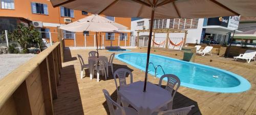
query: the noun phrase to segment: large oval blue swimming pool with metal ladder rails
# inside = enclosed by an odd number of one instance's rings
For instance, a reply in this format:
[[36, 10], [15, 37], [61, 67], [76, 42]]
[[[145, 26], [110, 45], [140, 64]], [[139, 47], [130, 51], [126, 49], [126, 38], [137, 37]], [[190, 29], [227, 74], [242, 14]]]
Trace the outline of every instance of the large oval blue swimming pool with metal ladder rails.
[[[145, 71], [146, 53], [121, 53], [115, 57]], [[155, 66], [161, 65], [165, 74], [178, 76], [181, 80], [181, 85], [185, 87], [219, 93], [239, 93], [250, 89], [250, 83], [246, 79], [220, 68], [156, 54], [150, 55], [150, 62], [154, 63]], [[148, 70], [148, 73], [155, 75], [152, 64], [148, 66]], [[163, 72], [159, 68], [157, 77], [162, 75]]]

